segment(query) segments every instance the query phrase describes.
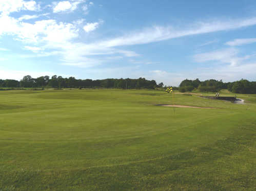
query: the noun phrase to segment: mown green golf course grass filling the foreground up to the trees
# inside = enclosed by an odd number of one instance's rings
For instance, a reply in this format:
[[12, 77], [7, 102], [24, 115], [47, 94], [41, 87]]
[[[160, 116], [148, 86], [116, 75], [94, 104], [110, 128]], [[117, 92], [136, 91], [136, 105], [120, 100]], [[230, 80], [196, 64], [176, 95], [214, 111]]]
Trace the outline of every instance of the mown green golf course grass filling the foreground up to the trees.
[[255, 190], [256, 96], [237, 97], [2, 91], [0, 190]]

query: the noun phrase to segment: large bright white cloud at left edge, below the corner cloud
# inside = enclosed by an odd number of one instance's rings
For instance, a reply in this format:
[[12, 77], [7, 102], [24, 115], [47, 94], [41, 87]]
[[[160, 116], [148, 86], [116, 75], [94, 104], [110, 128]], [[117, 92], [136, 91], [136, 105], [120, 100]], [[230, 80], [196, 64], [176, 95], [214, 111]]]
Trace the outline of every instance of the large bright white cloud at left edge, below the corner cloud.
[[19, 22], [13, 17], [2, 16], [0, 23], [5, 28], [0, 28], [0, 35], [14, 35], [15, 39], [31, 42], [59, 43], [67, 42], [78, 36], [78, 29], [71, 23], [57, 23], [55, 20], [40, 20], [32, 23]]

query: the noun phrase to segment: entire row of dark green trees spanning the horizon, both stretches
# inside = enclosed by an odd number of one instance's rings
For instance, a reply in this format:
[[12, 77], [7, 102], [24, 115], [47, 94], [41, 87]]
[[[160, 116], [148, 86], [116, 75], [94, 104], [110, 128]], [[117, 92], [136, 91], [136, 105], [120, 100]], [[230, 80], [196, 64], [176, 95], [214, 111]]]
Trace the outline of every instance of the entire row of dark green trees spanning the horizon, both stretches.
[[[134, 89], [134, 88], [147, 88], [153, 89], [156, 87], [163, 87], [161, 82], [156, 84], [155, 80], [146, 80], [145, 78], [139, 79], [104, 79], [104, 80], [91, 80], [91, 79], [75, 79], [74, 77], [63, 78], [61, 76], [42, 76], [38, 78], [32, 78], [27, 75], [20, 81], [17, 80], [1, 80], [0, 87], [8, 88], [37, 88], [37, 87], [52, 87], [52, 88], [122, 88], [122, 89]], [[180, 90], [181, 92], [192, 91], [209, 91], [218, 92], [221, 89], [228, 89], [234, 93], [253, 93], [256, 94], [256, 82], [250, 82], [245, 79], [235, 82], [223, 82], [222, 80], [205, 80], [200, 81], [198, 78], [195, 80], [183, 80], [179, 87], [173, 87], [173, 90]]]

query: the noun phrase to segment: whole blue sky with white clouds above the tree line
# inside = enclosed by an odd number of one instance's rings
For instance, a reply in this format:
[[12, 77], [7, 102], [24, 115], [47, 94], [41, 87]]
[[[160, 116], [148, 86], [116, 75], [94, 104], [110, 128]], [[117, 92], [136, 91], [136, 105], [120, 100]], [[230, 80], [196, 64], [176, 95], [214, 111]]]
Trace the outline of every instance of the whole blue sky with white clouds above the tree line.
[[256, 81], [255, 1], [0, 1], [0, 79]]

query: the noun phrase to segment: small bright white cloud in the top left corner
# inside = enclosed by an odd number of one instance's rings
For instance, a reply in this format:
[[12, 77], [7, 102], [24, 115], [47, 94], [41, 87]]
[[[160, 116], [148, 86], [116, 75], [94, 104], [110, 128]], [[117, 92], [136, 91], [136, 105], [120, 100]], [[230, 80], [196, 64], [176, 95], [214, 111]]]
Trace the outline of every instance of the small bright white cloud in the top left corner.
[[19, 12], [22, 10], [37, 11], [40, 10], [40, 5], [35, 1], [24, 0], [2, 0], [0, 1], [0, 13], [9, 15], [12, 12]]

